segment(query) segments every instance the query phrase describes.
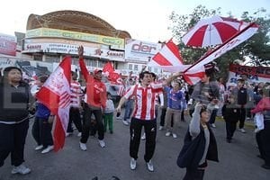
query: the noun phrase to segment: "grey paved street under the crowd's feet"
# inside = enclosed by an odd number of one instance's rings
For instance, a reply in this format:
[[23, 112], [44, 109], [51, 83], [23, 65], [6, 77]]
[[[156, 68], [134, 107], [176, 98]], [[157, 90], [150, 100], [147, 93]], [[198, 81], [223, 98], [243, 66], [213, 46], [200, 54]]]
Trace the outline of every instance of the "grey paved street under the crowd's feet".
[[[0, 180], [109, 180], [112, 175], [121, 180], [180, 180], [185, 169], [176, 166], [176, 157], [182, 147], [188, 122], [180, 122], [178, 138], [165, 136], [165, 130], [157, 132], [157, 148], [153, 157], [155, 172], [148, 172], [143, 160], [144, 141], [139, 148], [138, 166], [130, 170], [129, 127], [119, 120], [114, 120], [114, 133], [105, 134], [106, 147], [100, 148], [96, 138], [87, 142], [87, 151], [78, 146], [79, 138], [75, 135], [66, 139], [66, 146], [58, 153], [40, 154], [34, 151], [36, 146], [29, 133], [26, 148], [26, 165], [31, 167], [30, 175], [11, 175], [10, 157], [0, 168]], [[251, 122], [249, 122], [251, 123]], [[32, 125], [32, 121], [31, 121]], [[210, 162], [204, 179], [206, 180], [269, 180], [270, 171], [260, 167], [263, 161], [257, 157], [258, 150], [255, 134], [251, 126], [247, 133], [239, 131], [231, 144], [225, 140], [224, 121], [216, 121], [214, 129], [218, 140], [220, 163]], [[29, 130], [31, 132], [31, 128]]]

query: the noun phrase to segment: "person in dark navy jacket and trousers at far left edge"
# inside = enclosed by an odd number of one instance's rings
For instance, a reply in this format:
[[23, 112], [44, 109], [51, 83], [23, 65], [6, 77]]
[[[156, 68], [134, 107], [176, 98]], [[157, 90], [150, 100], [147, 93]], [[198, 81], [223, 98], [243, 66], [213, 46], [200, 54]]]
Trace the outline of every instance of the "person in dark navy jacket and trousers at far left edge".
[[31, 169], [24, 166], [24, 144], [29, 128], [30, 87], [22, 81], [22, 70], [5, 67], [0, 82], [0, 166], [11, 154], [12, 174], [26, 175]]

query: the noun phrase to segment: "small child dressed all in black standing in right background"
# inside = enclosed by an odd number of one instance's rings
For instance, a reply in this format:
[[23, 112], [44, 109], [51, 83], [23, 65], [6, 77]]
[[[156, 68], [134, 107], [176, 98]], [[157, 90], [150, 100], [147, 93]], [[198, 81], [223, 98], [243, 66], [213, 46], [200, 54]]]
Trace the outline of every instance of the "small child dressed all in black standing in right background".
[[235, 102], [235, 97], [230, 95], [227, 102], [222, 107], [222, 116], [226, 123], [227, 142], [230, 143], [237, 128], [239, 109]]

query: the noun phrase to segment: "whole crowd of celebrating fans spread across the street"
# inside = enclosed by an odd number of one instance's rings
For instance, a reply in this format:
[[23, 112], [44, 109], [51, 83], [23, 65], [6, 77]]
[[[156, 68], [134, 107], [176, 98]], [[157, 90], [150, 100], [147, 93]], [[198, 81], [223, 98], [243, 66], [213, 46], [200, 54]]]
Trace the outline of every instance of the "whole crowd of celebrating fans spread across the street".
[[[219, 161], [218, 147], [212, 128], [220, 116], [225, 120], [226, 139], [232, 143], [235, 130], [246, 133], [245, 121], [256, 121], [256, 139], [259, 157], [264, 159], [262, 167], [270, 169], [270, 99], [269, 85], [252, 85], [247, 76], [238, 79], [238, 85], [226, 86], [223, 79], [216, 78], [214, 63], [205, 65], [205, 76], [196, 85], [187, 85], [181, 73], [166, 79], [147, 70], [140, 74], [138, 82], [130, 76], [122, 82], [124, 93], [117, 106], [102, 81], [102, 70], [89, 73], [85, 67], [84, 47], [78, 48], [79, 66], [85, 79], [82, 90], [76, 72], [71, 72], [71, 103], [67, 137], [73, 134], [73, 124], [78, 131], [79, 148], [87, 150], [87, 140], [97, 133], [101, 148], [106, 146], [104, 134], [113, 133], [114, 112], [121, 112], [125, 104], [122, 122], [130, 127], [130, 169], [137, 167], [139, 142], [145, 139], [145, 155], [148, 171], [154, 171], [152, 157], [156, 148], [157, 130], [166, 130], [166, 137], [177, 139], [177, 125], [190, 115], [184, 146], [177, 158], [177, 165], [186, 168], [184, 179], [203, 179], [207, 160]], [[18, 67], [4, 68], [0, 82], [0, 166], [11, 154], [13, 174], [28, 174], [31, 169], [24, 165], [24, 144], [29, 129], [29, 112], [34, 108], [32, 137], [37, 143], [34, 150], [49, 153], [53, 150], [51, 135], [55, 114], [44, 104], [35, 101], [35, 94], [48, 76], [40, 76], [36, 85], [31, 87], [23, 82], [22, 70]], [[160, 109], [160, 113], [157, 113]], [[159, 123], [157, 123], [157, 115]], [[238, 128], [237, 128], [238, 126]], [[144, 132], [142, 132], [144, 130]], [[141, 136], [141, 134], [143, 134]], [[195, 157], [195, 158], [193, 158]]]

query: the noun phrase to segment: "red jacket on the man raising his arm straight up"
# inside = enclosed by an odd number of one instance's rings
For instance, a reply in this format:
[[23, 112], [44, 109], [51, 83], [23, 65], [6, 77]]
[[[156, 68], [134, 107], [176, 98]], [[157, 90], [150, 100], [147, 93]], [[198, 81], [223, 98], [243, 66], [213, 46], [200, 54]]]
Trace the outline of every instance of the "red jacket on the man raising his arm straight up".
[[88, 73], [83, 58], [79, 59], [79, 65], [86, 82], [86, 94], [87, 94], [86, 102], [94, 107], [105, 108], [107, 101], [106, 85], [104, 85], [103, 82], [96, 80], [94, 76], [91, 76]]

